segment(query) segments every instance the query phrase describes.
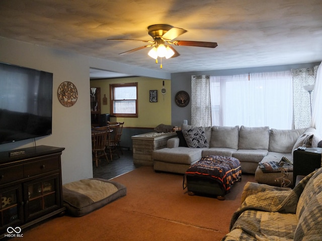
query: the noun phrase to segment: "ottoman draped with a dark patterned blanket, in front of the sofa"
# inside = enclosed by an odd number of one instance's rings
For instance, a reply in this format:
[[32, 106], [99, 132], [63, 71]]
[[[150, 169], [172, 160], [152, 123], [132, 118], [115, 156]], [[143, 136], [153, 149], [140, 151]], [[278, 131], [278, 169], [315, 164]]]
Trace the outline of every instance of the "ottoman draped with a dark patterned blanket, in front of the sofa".
[[238, 159], [224, 156], [208, 156], [188, 168], [184, 176], [184, 189], [189, 195], [214, 195], [224, 200], [234, 182], [241, 180]]

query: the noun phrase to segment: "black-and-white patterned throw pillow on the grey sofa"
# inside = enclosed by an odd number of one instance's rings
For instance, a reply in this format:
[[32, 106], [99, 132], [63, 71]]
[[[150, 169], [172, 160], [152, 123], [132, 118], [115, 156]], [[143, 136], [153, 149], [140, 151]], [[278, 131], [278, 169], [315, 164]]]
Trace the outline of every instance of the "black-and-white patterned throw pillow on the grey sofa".
[[190, 148], [209, 147], [209, 144], [206, 139], [206, 135], [202, 127], [182, 130], [182, 134], [186, 139], [188, 147]]

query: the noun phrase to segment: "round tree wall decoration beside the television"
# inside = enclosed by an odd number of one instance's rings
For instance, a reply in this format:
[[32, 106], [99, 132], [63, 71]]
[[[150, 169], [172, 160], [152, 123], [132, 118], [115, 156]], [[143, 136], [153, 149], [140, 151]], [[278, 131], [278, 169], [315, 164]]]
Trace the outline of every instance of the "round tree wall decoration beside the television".
[[73, 106], [76, 103], [76, 100], [78, 98], [78, 92], [76, 89], [76, 86], [69, 82], [65, 81], [62, 82], [58, 86], [57, 96], [59, 102], [66, 107]]

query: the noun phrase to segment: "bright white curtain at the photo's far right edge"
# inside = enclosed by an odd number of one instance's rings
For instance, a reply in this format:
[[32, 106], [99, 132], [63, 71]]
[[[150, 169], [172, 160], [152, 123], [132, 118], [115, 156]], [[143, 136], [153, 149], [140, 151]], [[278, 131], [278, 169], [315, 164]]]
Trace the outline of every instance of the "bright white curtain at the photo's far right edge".
[[319, 135], [322, 135], [322, 63], [318, 66], [312, 96], [312, 123]]

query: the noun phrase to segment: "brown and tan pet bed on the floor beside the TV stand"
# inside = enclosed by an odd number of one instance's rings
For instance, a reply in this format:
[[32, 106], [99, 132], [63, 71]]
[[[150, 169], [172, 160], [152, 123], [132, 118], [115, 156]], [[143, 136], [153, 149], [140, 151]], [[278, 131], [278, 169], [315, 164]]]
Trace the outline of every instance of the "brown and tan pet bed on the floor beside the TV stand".
[[83, 179], [62, 186], [63, 204], [67, 213], [84, 216], [126, 195], [126, 187], [101, 178]]

